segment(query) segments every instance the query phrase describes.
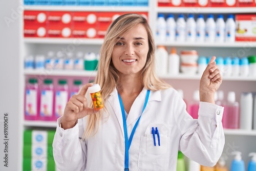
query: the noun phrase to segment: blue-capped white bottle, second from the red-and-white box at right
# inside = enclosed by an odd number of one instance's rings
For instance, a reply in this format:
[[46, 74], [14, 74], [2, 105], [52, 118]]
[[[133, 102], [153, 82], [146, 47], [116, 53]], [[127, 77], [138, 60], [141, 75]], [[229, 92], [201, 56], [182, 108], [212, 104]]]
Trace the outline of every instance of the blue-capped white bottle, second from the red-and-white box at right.
[[224, 42], [225, 39], [225, 22], [223, 15], [219, 14], [216, 20], [216, 42]]

